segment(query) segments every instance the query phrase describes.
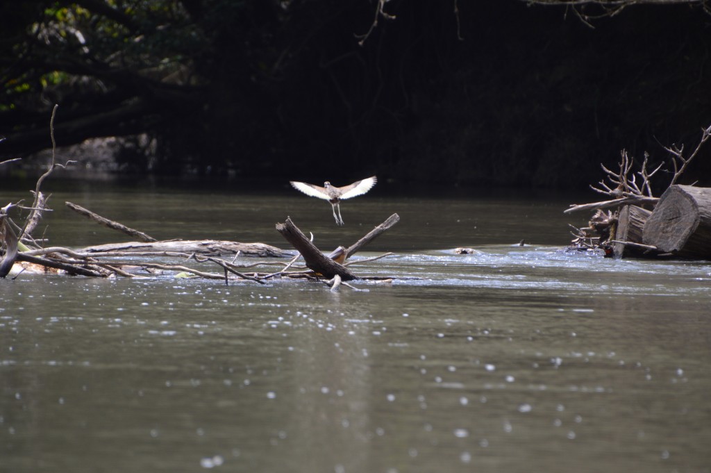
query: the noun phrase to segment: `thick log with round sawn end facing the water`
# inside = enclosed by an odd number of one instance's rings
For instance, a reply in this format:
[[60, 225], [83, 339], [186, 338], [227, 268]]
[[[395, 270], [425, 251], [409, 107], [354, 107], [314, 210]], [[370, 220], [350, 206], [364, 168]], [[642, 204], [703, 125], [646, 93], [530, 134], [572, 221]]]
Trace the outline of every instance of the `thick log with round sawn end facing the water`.
[[670, 186], [644, 224], [642, 239], [663, 253], [711, 259], [711, 188]]

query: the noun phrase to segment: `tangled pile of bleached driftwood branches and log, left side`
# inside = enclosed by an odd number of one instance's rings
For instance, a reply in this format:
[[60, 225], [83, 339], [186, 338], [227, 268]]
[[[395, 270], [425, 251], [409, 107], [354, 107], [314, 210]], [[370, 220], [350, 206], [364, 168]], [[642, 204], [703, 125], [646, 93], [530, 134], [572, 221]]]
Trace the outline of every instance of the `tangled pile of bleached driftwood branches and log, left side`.
[[[73, 211], [108, 228], [125, 233], [136, 240], [140, 240], [140, 242], [113, 243], [78, 250], [60, 246], [47, 247], [46, 240], [36, 239], [32, 236], [33, 231], [36, 230], [41, 221], [43, 213], [52, 211], [48, 207], [47, 197], [41, 192], [41, 186], [55, 168], [65, 167], [72, 162], [68, 161], [65, 164], [57, 164], [55, 162], [54, 117], [56, 110], [57, 107], [55, 106], [50, 120], [50, 134], [53, 142], [52, 162], [36, 183], [32, 205], [29, 207], [23, 206], [22, 201], [19, 201], [17, 203], [8, 203], [0, 208], [0, 278], [5, 278], [8, 275], [15, 278], [25, 271], [55, 272], [90, 277], [155, 277], [156, 275], [167, 273], [174, 274], [177, 277], [204, 277], [224, 280], [225, 284], [235, 279], [264, 284], [267, 280], [277, 277], [320, 280], [324, 276], [331, 277], [332, 280], [329, 285], [332, 287], [337, 287], [340, 284], [340, 280], [338, 284], [333, 280], [336, 273], [329, 274], [327, 270], [323, 269], [323, 264], [314, 265], [309, 262], [309, 260], [314, 259], [320, 261], [320, 257], [325, 258], [320, 252], [317, 252], [318, 256], [304, 253], [306, 266], [296, 267], [294, 263], [299, 258], [299, 254], [294, 256], [293, 253], [271, 245], [265, 245], [264, 243], [237, 243], [220, 240], [156, 241], [155, 238], [146, 233], [99, 216], [71, 202], [67, 202], [66, 205]], [[11, 161], [16, 161], [16, 159]], [[0, 162], [0, 165], [8, 162], [10, 161]], [[13, 218], [20, 221], [23, 211], [29, 211], [29, 213], [23, 218], [23, 224], [18, 225]], [[341, 247], [336, 253], [333, 253], [331, 258], [336, 260], [333, 265], [341, 268], [336, 272], [343, 273], [348, 271], [344, 267], [353, 262], [343, 262], [343, 260], [355, 254], [363, 245], [397, 223], [397, 220], [399, 220], [399, 217], [395, 214], [386, 220], [383, 225], [361, 238], [351, 248], [346, 250]], [[287, 219], [287, 223], [290, 222], [291, 220]], [[386, 255], [389, 255], [389, 253], [386, 253]], [[258, 262], [238, 263], [237, 257], [240, 256], [264, 259]], [[288, 256], [294, 257], [289, 262], [279, 260]], [[358, 260], [357, 262], [376, 260], [383, 256]], [[340, 257], [340, 260], [338, 260], [338, 257]], [[341, 262], [343, 262], [343, 265], [340, 264]], [[290, 270], [292, 267], [294, 269]], [[347, 279], [385, 278], [348, 277]]]

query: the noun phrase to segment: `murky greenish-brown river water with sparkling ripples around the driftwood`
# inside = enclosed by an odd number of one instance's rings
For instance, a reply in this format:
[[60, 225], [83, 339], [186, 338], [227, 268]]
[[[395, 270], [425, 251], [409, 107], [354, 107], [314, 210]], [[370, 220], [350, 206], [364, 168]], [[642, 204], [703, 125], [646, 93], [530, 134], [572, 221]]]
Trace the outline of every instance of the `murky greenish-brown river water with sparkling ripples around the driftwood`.
[[64, 201], [285, 249], [291, 216], [324, 251], [398, 213], [351, 266], [395, 279], [0, 280], [0, 472], [711, 472], [711, 265], [565, 253], [570, 198], [376, 187], [338, 228], [286, 188], [50, 190], [71, 248], [125, 238]]

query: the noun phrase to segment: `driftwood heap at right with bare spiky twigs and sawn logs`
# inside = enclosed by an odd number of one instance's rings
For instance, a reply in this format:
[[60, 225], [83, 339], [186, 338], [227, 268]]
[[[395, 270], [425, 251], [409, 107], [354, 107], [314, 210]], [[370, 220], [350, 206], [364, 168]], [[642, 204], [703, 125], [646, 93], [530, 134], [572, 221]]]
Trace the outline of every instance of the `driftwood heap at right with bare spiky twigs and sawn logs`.
[[[602, 250], [609, 257], [711, 260], [711, 188], [677, 184], [710, 136], [711, 126], [702, 129], [701, 138], [688, 157], [683, 145], [664, 147], [670, 159], [652, 171], [648, 169], [648, 154], [636, 165], [622, 150], [619, 169], [611, 171], [602, 166], [606, 180], [591, 186], [613, 199], [575, 204], [564, 211], [596, 211], [586, 228], [573, 227], [570, 248]], [[655, 197], [652, 177], [659, 171], [672, 177], [661, 197]]]

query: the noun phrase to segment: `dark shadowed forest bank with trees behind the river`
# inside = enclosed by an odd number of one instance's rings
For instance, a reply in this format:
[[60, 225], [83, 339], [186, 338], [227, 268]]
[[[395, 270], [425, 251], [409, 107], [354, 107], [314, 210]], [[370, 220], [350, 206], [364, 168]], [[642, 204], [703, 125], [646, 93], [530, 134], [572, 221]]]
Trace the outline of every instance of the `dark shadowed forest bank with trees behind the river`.
[[[51, 146], [56, 103], [57, 144], [125, 137], [123, 173], [582, 188], [711, 124], [703, 4], [392, 0], [358, 36], [377, 9], [3, 2], [0, 161]], [[711, 184], [711, 145], [683, 181]]]

